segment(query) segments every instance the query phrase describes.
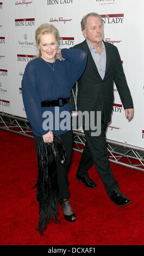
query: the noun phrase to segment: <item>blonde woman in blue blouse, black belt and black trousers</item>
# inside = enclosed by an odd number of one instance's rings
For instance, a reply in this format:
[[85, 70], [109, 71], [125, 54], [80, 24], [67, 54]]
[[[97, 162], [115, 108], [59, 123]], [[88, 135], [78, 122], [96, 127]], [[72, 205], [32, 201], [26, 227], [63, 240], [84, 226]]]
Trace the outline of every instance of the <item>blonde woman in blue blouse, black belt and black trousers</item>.
[[[86, 52], [66, 48], [60, 50], [58, 29], [47, 23], [36, 29], [35, 39], [40, 52], [37, 58], [27, 64], [24, 71], [24, 108], [32, 125], [37, 158], [41, 138], [45, 143], [52, 143], [55, 134], [64, 143], [66, 162], [64, 166], [57, 166], [59, 199], [65, 219], [74, 222], [76, 216], [68, 200], [68, 169], [72, 157], [71, 108], [68, 97], [85, 69]], [[69, 114], [66, 122], [65, 113]]]

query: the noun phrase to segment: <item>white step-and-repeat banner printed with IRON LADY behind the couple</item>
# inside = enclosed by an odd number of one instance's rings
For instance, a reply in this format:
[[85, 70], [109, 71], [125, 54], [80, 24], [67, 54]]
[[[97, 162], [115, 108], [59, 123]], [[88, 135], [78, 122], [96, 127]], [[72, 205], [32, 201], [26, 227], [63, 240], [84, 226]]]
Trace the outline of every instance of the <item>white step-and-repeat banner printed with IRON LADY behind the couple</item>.
[[59, 29], [60, 47], [69, 48], [84, 40], [80, 21], [94, 11], [103, 18], [104, 40], [120, 52], [135, 108], [134, 119], [128, 122], [114, 84], [107, 138], [143, 148], [143, 9], [143, 0], [0, 0], [0, 111], [26, 118], [21, 80], [38, 52], [36, 28], [53, 24]]

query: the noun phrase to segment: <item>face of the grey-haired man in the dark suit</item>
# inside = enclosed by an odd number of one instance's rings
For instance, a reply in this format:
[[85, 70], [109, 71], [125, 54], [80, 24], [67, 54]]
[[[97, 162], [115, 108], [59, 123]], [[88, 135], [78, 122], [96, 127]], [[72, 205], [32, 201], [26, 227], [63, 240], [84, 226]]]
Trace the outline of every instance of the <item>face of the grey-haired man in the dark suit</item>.
[[98, 17], [89, 16], [87, 18], [87, 26], [85, 30], [83, 30], [83, 34], [92, 46], [96, 46], [96, 44], [101, 42], [103, 39], [103, 26], [101, 20]]

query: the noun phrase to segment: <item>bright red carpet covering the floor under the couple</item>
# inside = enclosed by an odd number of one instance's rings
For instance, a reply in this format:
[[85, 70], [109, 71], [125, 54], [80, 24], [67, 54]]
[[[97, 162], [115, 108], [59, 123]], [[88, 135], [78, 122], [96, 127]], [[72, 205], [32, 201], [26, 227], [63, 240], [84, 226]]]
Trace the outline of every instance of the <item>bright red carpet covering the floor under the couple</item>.
[[76, 180], [80, 153], [73, 153], [70, 170], [71, 205], [75, 223], [65, 221], [61, 208], [59, 224], [49, 224], [45, 234], [36, 230], [36, 155], [34, 140], [0, 130], [1, 138], [1, 245], [144, 245], [144, 173], [111, 164], [121, 191], [132, 201], [118, 207], [111, 203], [95, 167], [90, 177], [97, 188]]

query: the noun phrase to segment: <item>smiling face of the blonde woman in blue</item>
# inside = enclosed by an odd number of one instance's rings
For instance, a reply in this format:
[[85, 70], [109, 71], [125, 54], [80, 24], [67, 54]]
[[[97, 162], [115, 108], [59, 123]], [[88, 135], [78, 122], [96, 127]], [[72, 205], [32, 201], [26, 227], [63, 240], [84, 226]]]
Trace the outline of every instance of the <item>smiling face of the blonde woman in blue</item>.
[[57, 53], [57, 40], [53, 34], [45, 34], [40, 36], [39, 48], [41, 50], [41, 58], [46, 62], [54, 62]]

